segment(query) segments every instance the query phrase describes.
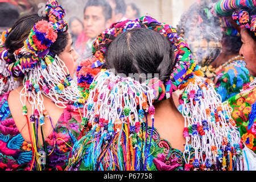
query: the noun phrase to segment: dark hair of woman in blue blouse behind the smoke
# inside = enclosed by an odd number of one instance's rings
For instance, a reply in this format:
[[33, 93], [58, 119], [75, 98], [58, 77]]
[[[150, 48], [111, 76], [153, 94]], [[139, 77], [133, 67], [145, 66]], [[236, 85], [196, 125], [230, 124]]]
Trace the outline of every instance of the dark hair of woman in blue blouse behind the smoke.
[[225, 33], [222, 36], [221, 42], [225, 46], [226, 51], [233, 54], [238, 54], [243, 44], [241, 36], [229, 36]]

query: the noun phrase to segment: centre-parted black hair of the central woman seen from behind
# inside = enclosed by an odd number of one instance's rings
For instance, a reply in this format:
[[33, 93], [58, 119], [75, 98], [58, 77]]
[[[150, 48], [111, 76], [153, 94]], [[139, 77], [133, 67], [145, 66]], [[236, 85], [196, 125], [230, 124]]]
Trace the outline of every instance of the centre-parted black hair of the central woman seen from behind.
[[147, 28], [123, 32], [110, 43], [106, 68], [120, 74], [159, 74], [166, 81], [174, 67], [174, 48], [163, 35]]

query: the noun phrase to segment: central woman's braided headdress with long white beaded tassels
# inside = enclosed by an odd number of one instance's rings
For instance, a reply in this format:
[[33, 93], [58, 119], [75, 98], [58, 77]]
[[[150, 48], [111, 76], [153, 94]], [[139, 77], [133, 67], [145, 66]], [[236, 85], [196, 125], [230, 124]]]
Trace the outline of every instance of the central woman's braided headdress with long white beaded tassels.
[[[140, 27], [159, 32], [175, 47], [175, 67], [170, 78], [164, 83], [154, 78], [140, 84], [109, 71], [98, 73], [104, 67], [104, 55], [112, 40], [124, 31]], [[80, 86], [85, 86], [82, 125], [92, 130], [75, 145], [68, 169], [81, 165], [85, 170], [149, 170], [149, 148], [152, 138], [156, 137], [152, 104], [170, 98], [176, 90], [184, 90], [180, 104], [185, 118], [184, 156], [187, 158], [184, 159], [183, 154], [172, 154], [169, 148], [165, 151], [166, 164], [175, 155], [184, 161], [185, 170], [212, 169], [213, 166], [223, 170], [240, 169], [237, 164], [242, 159], [242, 144], [236, 123], [230, 117], [229, 108], [222, 105], [214, 84], [201, 77], [187, 43], [175, 28], [150, 16], [119, 22], [98, 36], [93, 52], [93, 62], [82, 63], [84, 66], [77, 73]], [[148, 116], [153, 123], [151, 129], [148, 129]]]

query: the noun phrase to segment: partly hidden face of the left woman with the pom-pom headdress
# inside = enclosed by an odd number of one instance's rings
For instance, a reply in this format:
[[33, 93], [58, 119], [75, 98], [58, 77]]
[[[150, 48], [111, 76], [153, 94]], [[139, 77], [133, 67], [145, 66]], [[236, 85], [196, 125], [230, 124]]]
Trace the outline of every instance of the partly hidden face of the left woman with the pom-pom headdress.
[[68, 68], [69, 74], [73, 77], [77, 68], [77, 59], [79, 58], [79, 55], [73, 48], [73, 42], [71, 35], [68, 34], [68, 44], [65, 47], [64, 51], [61, 52], [59, 55], [61, 60], [63, 60], [64, 64]]

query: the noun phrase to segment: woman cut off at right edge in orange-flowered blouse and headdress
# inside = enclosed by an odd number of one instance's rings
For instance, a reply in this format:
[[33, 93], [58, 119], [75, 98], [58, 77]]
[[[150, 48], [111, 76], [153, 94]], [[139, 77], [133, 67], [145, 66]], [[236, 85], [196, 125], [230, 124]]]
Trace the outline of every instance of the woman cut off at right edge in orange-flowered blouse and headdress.
[[[227, 6], [232, 5], [232, 6]], [[245, 58], [246, 68], [256, 76], [256, 1], [219, 1], [213, 6], [213, 13], [233, 18], [242, 38], [240, 55]], [[233, 108], [232, 117], [240, 128], [243, 143], [256, 153], [256, 90], [255, 78], [241, 93], [229, 99]], [[256, 156], [254, 156], [256, 158]]]

